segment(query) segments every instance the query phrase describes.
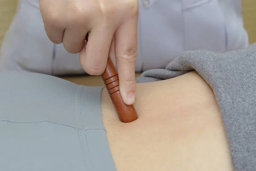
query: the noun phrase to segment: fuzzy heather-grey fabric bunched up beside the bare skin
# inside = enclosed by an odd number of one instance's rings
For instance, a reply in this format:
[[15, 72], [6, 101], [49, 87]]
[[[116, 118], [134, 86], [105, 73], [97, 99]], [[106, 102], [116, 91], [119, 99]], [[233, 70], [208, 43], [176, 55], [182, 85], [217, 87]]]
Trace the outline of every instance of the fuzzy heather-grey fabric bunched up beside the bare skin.
[[256, 168], [256, 43], [239, 51], [186, 51], [166, 69], [145, 71], [137, 82], [197, 71], [217, 100], [235, 171]]

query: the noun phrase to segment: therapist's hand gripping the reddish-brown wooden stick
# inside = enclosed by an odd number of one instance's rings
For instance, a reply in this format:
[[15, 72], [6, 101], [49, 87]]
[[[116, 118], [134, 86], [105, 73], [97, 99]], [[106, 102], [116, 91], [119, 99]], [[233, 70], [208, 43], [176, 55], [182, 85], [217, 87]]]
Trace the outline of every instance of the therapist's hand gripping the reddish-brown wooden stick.
[[40, 10], [49, 39], [63, 43], [70, 53], [80, 52], [81, 66], [88, 74], [100, 75], [105, 71], [112, 42], [122, 99], [133, 104], [138, 1], [40, 0]]

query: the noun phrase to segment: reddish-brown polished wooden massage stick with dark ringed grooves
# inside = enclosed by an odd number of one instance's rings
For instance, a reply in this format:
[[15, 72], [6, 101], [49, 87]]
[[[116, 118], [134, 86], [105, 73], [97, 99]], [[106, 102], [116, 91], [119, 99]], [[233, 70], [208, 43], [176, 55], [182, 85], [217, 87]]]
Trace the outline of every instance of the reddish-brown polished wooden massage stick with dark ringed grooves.
[[[88, 36], [89, 35], [87, 34], [86, 41], [88, 41]], [[101, 76], [116, 108], [120, 121], [123, 123], [130, 123], [137, 120], [138, 117], [134, 105], [127, 105], [122, 100], [119, 91], [119, 77], [110, 57], [108, 57], [107, 67]]]

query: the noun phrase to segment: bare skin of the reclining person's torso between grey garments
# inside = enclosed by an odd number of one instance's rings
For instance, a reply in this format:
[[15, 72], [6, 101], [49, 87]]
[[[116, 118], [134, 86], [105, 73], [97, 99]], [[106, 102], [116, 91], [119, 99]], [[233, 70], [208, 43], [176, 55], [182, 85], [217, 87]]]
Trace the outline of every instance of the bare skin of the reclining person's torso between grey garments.
[[232, 171], [215, 96], [196, 73], [137, 85], [139, 118], [121, 123], [105, 90], [102, 117], [117, 171]]

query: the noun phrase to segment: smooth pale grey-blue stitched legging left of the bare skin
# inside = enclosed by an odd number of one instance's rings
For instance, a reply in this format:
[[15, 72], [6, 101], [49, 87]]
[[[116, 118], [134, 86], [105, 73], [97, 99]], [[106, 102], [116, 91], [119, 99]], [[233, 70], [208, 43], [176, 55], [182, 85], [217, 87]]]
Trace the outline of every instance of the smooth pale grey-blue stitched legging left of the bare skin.
[[115, 171], [102, 87], [0, 72], [1, 171]]

